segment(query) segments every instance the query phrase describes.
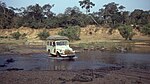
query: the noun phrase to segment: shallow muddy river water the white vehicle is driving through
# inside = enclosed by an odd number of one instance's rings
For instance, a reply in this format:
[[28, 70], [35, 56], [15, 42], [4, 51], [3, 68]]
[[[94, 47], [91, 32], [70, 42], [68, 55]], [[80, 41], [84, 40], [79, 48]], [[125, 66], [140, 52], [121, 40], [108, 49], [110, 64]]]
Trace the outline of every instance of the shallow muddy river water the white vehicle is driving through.
[[[103, 67], [126, 67], [150, 70], [150, 53], [111, 53], [101, 51], [84, 51], [76, 53], [75, 60], [52, 59], [47, 54], [27, 56], [0, 55], [0, 70], [81, 70]], [[6, 60], [12, 58], [14, 62]]]

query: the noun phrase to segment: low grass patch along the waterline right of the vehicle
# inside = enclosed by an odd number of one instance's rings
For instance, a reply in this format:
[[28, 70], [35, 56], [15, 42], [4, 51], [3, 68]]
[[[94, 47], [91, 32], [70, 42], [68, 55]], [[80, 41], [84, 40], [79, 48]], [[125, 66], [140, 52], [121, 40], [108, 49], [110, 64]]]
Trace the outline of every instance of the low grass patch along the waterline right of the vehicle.
[[126, 50], [131, 50], [134, 47], [134, 43], [132, 42], [91, 42], [91, 43], [72, 44], [72, 46], [76, 46], [81, 49], [105, 48], [106, 50], [115, 52], [121, 50], [121, 48], [124, 48]]

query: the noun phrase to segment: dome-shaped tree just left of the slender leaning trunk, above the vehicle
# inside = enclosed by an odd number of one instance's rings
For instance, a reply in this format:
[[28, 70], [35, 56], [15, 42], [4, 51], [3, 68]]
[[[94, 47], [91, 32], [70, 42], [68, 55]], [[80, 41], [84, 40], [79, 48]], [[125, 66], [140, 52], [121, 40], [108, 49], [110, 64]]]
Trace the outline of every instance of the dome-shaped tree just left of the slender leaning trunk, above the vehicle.
[[86, 26], [89, 23], [87, 15], [83, 14], [76, 6], [66, 8], [63, 14], [62, 23], [67, 26]]

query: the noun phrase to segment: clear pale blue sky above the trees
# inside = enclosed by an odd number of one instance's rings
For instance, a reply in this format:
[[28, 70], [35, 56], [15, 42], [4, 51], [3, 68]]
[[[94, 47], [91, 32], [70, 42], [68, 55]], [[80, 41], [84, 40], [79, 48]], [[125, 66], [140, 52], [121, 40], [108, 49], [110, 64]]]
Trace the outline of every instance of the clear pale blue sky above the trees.
[[[65, 9], [67, 7], [74, 7], [79, 6], [79, 0], [0, 0], [2, 2], [5, 2], [6, 5], [12, 6], [12, 7], [27, 7], [29, 5], [35, 5], [40, 4], [43, 6], [44, 4], [55, 4], [55, 6], [52, 8], [52, 12], [58, 14], [58, 13], [64, 13]], [[93, 3], [95, 3], [95, 6], [92, 8], [93, 11], [98, 11], [100, 8], [103, 7], [103, 5], [108, 4], [110, 2], [115, 2], [119, 5], [125, 6], [125, 10], [127, 11], [133, 11], [134, 9], [142, 9], [142, 10], [150, 10], [150, 0], [91, 0]], [[81, 9], [81, 8], [80, 8]], [[82, 12], [85, 12], [85, 10], [82, 10]], [[91, 11], [91, 12], [93, 12]]]

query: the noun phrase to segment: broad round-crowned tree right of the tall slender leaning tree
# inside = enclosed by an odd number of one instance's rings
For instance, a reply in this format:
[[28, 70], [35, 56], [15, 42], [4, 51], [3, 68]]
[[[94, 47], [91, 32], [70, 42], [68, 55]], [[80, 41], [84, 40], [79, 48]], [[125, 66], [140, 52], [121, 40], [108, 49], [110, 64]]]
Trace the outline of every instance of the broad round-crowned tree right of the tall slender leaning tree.
[[105, 24], [109, 24], [111, 27], [116, 27], [118, 23], [122, 22], [122, 16], [119, 12], [119, 9], [122, 10], [124, 6], [119, 6], [119, 4], [116, 4], [115, 2], [108, 3], [104, 5], [104, 9], [100, 10], [101, 15], [104, 19]]

